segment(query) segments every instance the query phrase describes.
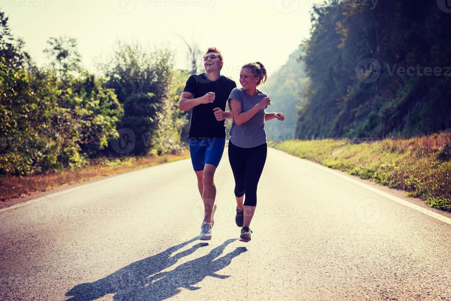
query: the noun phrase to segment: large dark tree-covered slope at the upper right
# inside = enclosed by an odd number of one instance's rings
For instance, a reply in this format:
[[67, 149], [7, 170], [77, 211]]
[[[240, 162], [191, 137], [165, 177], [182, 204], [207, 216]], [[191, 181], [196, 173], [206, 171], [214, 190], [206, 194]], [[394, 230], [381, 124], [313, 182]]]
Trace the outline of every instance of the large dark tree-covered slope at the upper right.
[[[451, 127], [450, 77], [422, 71], [451, 65], [451, 18], [437, 3], [383, 1], [371, 8], [333, 1], [315, 6], [312, 21], [302, 56], [309, 84], [296, 124], [301, 137], [411, 136]], [[381, 66], [371, 83], [355, 74], [364, 59]], [[368, 67], [365, 76], [375, 71]], [[408, 68], [413, 74], [405, 74]]]

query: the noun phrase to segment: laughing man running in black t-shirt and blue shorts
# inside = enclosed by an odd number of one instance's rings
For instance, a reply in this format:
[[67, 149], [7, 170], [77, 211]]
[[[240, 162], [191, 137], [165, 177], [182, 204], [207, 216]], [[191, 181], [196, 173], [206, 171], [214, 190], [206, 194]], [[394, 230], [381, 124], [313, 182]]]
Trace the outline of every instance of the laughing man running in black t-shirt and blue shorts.
[[236, 83], [221, 75], [222, 54], [215, 47], [203, 56], [205, 73], [193, 74], [180, 96], [180, 111], [192, 110], [189, 124], [189, 151], [198, 189], [204, 204], [200, 240], [212, 238], [213, 215], [216, 209], [216, 186], [213, 181], [226, 143], [224, 119], [232, 119], [226, 102]]

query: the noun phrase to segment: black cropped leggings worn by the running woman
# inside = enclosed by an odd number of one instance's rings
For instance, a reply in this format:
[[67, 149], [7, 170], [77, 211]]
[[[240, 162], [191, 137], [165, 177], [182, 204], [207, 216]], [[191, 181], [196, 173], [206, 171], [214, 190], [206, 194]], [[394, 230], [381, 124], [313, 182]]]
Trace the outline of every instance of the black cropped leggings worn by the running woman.
[[235, 178], [235, 195], [244, 198], [244, 206], [257, 205], [257, 185], [265, 166], [267, 144], [240, 148], [229, 141], [229, 161]]

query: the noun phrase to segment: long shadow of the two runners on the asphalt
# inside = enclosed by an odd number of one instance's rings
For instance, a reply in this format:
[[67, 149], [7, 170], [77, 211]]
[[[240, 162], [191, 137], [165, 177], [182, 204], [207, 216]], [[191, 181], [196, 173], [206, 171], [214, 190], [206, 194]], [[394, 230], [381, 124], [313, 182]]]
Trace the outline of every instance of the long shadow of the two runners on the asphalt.
[[247, 251], [245, 247], [238, 247], [221, 258], [215, 259], [224, 252], [227, 245], [237, 240], [229, 239], [211, 250], [208, 255], [180, 264], [172, 271], [160, 273], [180, 258], [191, 255], [198, 248], [208, 245], [198, 243], [188, 250], [169, 257], [197, 239], [195, 237], [159, 254], [136, 261], [96, 282], [78, 284], [66, 293], [69, 297], [67, 300], [95, 300], [106, 294], [115, 294], [114, 300], [164, 300], [178, 294], [182, 287], [189, 290], [199, 289], [200, 287], [194, 285], [206, 276], [221, 279], [230, 277], [218, 275], [216, 272], [229, 265], [233, 258]]

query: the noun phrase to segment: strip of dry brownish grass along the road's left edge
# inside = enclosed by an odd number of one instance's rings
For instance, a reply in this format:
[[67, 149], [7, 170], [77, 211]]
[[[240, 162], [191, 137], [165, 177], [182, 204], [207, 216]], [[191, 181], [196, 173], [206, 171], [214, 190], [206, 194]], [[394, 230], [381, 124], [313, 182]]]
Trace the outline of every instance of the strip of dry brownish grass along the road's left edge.
[[32, 176], [0, 176], [0, 200], [23, 197], [39, 191], [82, 183], [103, 176], [112, 176], [126, 171], [138, 170], [158, 164], [189, 158], [189, 152], [179, 155], [124, 157], [110, 160], [99, 158], [87, 167], [77, 170], [48, 172]]

